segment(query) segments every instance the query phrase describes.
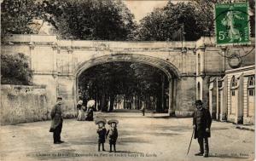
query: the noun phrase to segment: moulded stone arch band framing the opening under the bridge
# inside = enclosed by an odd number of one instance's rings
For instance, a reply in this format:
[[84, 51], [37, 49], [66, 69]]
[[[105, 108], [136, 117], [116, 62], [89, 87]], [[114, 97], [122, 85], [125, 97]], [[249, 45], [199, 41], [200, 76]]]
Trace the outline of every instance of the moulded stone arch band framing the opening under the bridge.
[[95, 59], [90, 59], [87, 61], [84, 61], [81, 63], [75, 70], [75, 81], [74, 81], [74, 88], [73, 88], [73, 100], [75, 104], [78, 101], [78, 95], [79, 95], [79, 76], [82, 72], [85, 70], [89, 69], [92, 66], [97, 66], [101, 65], [103, 63], [108, 63], [108, 62], [116, 62], [116, 61], [128, 61], [128, 62], [139, 62], [143, 64], [147, 64], [149, 66], [154, 66], [156, 68], [159, 68], [162, 72], [166, 73], [166, 76], [168, 78], [169, 82], [169, 109], [168, 113], [170, 115], [173, 115], [175, 112], [175, 106], [176, 106], [176, 101], [174, 101], [175, 96], [176, 96], [176, 84], [177, 84], [177, 79], [180, 78], [180, 72], [177, 70], [176, 66], [173, 66], [170, 62], [166, 60], [160, 60], [155, 57], [151, 56], [146, 56], [146, 55], [121, 55], [121, 54], [116, 54], [116, 55], [103, 55], [101, 57], [97, 57]]

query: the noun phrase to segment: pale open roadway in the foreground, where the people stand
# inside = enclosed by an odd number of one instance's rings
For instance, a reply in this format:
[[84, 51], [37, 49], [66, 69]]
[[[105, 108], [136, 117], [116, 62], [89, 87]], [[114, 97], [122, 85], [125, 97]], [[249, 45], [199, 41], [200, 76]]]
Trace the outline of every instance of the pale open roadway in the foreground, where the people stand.
[[[96, 113], [96, 118], [119, 120], [116, 153], [97, 152], [96, 124], [65, 119], [61, 138], [53, 144], [50, 121], [6, 125], [0, 130], [1, 160], [253, 160], [254, 133], [234, 124], [212, 122], [210, 157], [196, 157], [191, 118], [167, 118], [136, 112]], [[107, 125], [108, 128], [108, 125]], [[108, 141], [105, 147], [109, 150]]]

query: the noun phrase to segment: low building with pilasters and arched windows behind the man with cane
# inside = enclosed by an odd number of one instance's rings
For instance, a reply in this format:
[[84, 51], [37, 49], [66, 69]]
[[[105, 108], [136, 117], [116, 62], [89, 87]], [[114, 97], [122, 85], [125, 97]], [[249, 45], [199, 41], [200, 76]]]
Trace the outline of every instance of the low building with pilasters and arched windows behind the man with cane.
[[209, 84], [212, 118], [235, 124], [254, 124], [255, 66], [227, 70]]

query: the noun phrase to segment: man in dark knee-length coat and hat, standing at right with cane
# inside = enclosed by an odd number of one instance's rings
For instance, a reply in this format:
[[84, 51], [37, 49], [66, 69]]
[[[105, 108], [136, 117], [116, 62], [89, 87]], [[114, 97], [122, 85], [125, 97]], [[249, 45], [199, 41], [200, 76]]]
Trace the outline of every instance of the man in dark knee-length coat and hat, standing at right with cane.
[[200, 152], [195, 153], [197, 156], [208, 157], [209, 145], [208, 137], [211, 136], [210, 129], [212, 124], [212, 117], [210, 112], [203, 108], [202, 101], [195, 101], [195, 116], [193, 119], [193, 127], [195, 128], [195, 139], [197, 138]]

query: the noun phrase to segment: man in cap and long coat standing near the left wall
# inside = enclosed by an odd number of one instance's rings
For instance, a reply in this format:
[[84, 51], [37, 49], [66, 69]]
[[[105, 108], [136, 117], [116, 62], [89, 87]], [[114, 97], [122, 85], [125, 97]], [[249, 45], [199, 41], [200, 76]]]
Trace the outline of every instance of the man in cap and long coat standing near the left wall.
[[52, 108], [50, 112], [51, 116], [51, 126], [49, 132], [53, 132], [54, 144], [61, 144], [64, 141], [61, 141], [61, 129], [62, 129], [62, 110], [61, 110], [62, 98], [57, 98], [57, 103]]

